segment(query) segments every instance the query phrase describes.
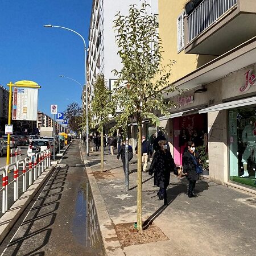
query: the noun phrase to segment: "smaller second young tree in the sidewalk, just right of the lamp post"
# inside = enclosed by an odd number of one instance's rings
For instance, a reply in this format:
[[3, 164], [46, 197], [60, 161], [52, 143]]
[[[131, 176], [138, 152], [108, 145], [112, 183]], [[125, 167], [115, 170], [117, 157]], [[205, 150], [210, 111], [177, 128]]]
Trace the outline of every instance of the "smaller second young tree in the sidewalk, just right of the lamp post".
[[92, 116], [93, 125], [98, 125], [101, 133], [101, 172], [104, 168], [104, 125], [109, 120], [109, 109], [106, 108], [109, 102], [110, 92], [103, 74], [98, 74], [93, 84]]

